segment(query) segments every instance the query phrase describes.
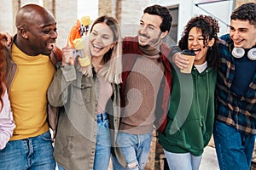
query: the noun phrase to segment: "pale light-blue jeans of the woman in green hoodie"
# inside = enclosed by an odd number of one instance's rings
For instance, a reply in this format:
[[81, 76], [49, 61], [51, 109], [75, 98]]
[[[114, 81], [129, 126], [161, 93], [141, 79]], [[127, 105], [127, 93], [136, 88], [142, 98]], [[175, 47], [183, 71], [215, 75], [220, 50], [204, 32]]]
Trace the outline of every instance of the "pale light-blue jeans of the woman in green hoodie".
[[170, 170], [198, 170], [201, 156], [193, 156], [190, 153], [172, 153], [164, 150]]

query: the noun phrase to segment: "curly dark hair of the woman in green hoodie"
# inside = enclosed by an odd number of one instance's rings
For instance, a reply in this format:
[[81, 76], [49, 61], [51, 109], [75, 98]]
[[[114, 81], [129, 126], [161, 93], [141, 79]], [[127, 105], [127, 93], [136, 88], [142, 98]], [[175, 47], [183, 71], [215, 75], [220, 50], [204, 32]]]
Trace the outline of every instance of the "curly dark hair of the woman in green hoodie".
[[189, 31], [196, 27], [201, 30], [204, 37], [204, 47], [208, 46], [208, 40], [215, 39], [214, 44], [207, 50], [207, 64], [213, 69], [218, 69], [218, 20], [213, 19], [208, 15], [198, 15], [189, 20], [188, 24], [184, 27], [183, 37], [178, 42], [178, 47], [188, 49]]

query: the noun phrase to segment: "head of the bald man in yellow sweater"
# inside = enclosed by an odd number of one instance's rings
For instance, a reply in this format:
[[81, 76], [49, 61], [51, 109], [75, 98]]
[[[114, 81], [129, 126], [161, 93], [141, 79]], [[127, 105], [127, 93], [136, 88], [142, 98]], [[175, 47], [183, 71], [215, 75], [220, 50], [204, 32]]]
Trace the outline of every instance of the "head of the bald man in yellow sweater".
[[16, 16], [18, 29], [16, 45], [26, 54], [48, 55], [57, 38], [55, 18], [45, 8], [30, 4], [21, 8]]

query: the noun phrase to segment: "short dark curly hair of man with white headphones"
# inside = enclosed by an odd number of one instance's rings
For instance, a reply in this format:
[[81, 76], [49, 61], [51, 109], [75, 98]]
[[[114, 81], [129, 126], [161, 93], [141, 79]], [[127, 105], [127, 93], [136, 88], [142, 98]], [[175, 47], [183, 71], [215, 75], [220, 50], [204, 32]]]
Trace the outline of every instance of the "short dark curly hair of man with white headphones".
[[256, 26], [256, 3], [244, 3], [236, 8], [230, 16], [230, 20], [248, 20]]

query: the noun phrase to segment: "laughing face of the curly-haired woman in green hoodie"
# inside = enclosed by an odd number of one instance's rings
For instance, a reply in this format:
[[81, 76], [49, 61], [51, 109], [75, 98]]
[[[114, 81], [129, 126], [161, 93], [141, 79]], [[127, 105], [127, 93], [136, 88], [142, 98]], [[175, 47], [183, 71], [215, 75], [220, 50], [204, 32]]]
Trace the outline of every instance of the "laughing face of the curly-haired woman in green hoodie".
[[[213, 38], [211, 41], [208, 41], [208, 47], [211, 47], [213, 42]], [[202, 36], [200, 28], [193, 27], [189, 31], [188, 48], [195, 52], [195, 65], [201, 65], [206, 62], [208, 48], [204, 44], [204, 37]]]

